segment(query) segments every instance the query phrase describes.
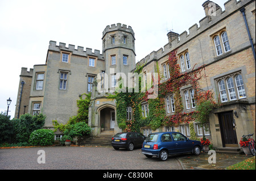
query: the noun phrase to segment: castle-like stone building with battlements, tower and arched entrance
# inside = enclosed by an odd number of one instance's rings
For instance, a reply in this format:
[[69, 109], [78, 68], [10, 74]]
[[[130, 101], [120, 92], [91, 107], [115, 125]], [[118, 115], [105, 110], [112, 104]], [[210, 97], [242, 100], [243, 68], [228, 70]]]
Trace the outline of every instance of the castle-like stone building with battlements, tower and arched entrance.
[[[206, 76], [200, 80], [200, 86], [213, 91], [214, 98], [223, 106], [210, 113], [209, 131], [194, 123], [196, 134], [208, 137], [214, 147], [238, 148], [243, 134], [255, 133], [255, 1], [229, 0], [224, 5], [225, 10], [222, 10], [216, 3], [205, 1], [205, 17], [199, 25], [194, 24], [189, 32], [184, 31], [180, 35], [169, 32], [164, 48], [152, 51], [137, 64], [143, 65], [144, 75], [156, 72], [158, 67], [163, 75], [161, 82], [170, 77], [167, 61], [173, 50], [177, 50], [182, 73], [204, 65]], [[121, 131], [116, 121], [115, 102], [106, 99], [106, 95], [114, 92], [119, 77], [126, 77], [125, 85], [131, 81], [129, 73], [135, 69], [135, 56], [134, 31], [120, 23], [107, 26], [103, 31], [102, 53], [100, 50], [92, 52], [89, 48], [84, 50], [83, 47], [75, 49], [74, 45], [66, 47], [64, 43], [56, 45], [55, 41], [50, 41], [46, 64], [35, 65], [27, 77], [26, 68], [22, 68], [20, 87], [24, 78], [30, 78], [30, 81], [24, 80], [24, 87], [29, 89], [31, 85], [31, 89], [22, 94], [22, 100], [27, 102], [21, 102], [20, 114], [23, 104], [27, 104], [24, 112], [42, 112], [47, 116], [45, 127], [51, 128], [52, 120], [67, 123], [69, 117], [77, 114], [76, 100], [79, 96], [92, 92], [89, 107], [92, 134], [99, 134], [101, 125], [106, 130]], [[93, 89], [96, 86], [97, 89]], [[20, 89], [16, 106], [19, 105]], [[192, 87], [181, 87], [180, 94], [183, 112], [195, 111]], [[165, 98], [166, 115], [174, 114], [172, 96], [169, 94]], [[146, 111], [147, 102], [141, 106], [142, 111]], [[169, 130], [190, 136], [185, 123], [156, 129]], [[152, 129], [143, 127], [141, 132], [147, 135]]]

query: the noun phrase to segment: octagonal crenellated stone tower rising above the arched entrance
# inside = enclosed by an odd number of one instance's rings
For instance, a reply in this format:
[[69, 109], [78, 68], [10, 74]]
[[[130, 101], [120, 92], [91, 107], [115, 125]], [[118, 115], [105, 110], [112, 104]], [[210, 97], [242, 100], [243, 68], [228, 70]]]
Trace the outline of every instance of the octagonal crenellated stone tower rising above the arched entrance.
[[[135, 37], [130, 26], [117, 23], [106, 26], [102, 32], [102, 52], [105, 57], [105, 74], [108, 75], [108, 89], [114, 90], [119, 75], [126, 76], [135, 69]], [[115, 79], [115, 81], [114, 81]], [[127, 85], [127, 84], [126, 84]]]

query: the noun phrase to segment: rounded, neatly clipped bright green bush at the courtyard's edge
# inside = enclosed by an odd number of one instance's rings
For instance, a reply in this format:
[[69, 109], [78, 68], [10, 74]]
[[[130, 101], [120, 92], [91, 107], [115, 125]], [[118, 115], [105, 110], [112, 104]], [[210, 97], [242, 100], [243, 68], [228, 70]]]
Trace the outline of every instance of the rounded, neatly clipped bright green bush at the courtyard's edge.
[[46, 146], [54, 144], [54, 133], [50, 129], [38, 129], [30, 134], [30, 145]]

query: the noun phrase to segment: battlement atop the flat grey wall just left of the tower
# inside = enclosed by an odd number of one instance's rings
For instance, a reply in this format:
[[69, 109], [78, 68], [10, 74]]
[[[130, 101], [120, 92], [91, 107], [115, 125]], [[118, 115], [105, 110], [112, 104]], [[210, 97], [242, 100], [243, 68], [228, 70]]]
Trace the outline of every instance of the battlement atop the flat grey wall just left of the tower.
[[96, 56], [101, 60], [104, 60], [104, 56], [100, 53], [100, 50], [95, 49], [94, 52], [92, 51], [92, 48], [86, 48], [84, 50], [84, 47], [77, 46], [77, 49], [75, 49], [75, 45], [69, 44], [68, 47], [66, 47], [65, 43], [59, 43], [59, 46], [56, 45], [56, 41], [49, 41], [49, 49], [56, 52], [60, 51], [67, 51], [72, 52], [72, 54], [75, 54], [77, 56]]

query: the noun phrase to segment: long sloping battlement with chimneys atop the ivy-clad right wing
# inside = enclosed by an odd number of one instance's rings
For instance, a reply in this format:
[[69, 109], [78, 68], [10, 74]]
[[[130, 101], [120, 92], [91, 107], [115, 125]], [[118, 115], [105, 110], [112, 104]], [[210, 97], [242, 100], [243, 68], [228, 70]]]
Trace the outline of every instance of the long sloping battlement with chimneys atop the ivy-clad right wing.
[[199, 21], [199, 25], [196, 23], [191, 26], [188, 31], [183, 33], [169, 32], [168, 43], [164, 45], [164, 49], [160, 48], [156, 52], [153, 51], [148, 54], [146, 57], [142, 58], [137, 64], [144, 64], [144, 62], [150, 62], [152, 60], [159, 60], [161, 57], [166, 56], [172, 50], [179, 48], [181, 45], [187, 43], [189, 40], [192, 40], [196, 36], [203, 33], [208, 28], [212, 27], [214, 24], [218, 23], [220, 20], [225, 19], [227, 16], [232, 14], [234, 11], [240, 10], [243, 6], [249, 3], [251, 0], [229, 0], [224, 3], [225, 10], [222, 10], [220, 6], [212, 1], [205, 1], [203, 3], [203, 8], [205, 11], [205, 17]]

